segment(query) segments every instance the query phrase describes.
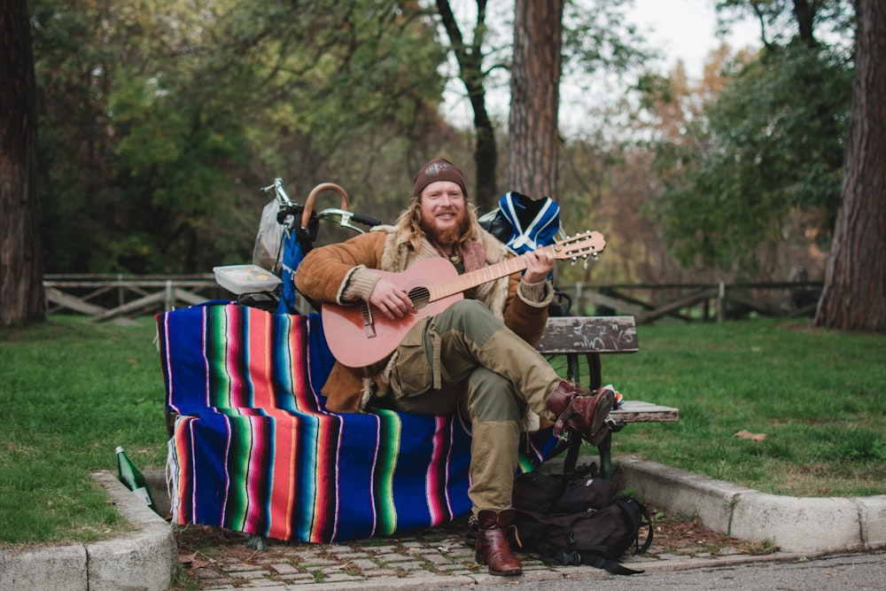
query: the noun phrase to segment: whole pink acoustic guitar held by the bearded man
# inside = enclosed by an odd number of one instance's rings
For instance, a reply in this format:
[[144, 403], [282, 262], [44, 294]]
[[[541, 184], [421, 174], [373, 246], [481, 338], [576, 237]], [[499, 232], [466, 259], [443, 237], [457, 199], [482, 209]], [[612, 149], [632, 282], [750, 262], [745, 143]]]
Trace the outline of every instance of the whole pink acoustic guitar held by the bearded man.
[[[600, 232], [588, 231], [565, 238], [539, 250], [558, 260], [577, 261], [602, 253], [606, 246]], [[439, 314], [462, 299], [462, 292], [526, 268], [527, 254], [459, 275], [452, 263], [439, 257], [417, 262], [402, 273], [374, 270], [408, 293], [413, 310], [391, 319], [369, 302], [351, 306], [323, 304], [323, 332], [330, 351], [348, 367], [361, 368], [380, 362], [393, 353], [409, 329], [423, 318]]]

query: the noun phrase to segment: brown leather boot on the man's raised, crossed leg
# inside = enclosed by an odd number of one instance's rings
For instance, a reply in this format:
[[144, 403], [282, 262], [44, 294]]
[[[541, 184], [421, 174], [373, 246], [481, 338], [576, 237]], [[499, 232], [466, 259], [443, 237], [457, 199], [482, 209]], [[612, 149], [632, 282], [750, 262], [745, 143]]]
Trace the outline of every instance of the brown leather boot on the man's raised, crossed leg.
[[613, 400], [615, 393], [608, 388], [592, 393], [585, 387], [563, 380], [547, 401], [548, 410], [557, 416], [554, 434], [560, 435], [569, 427], [591, 445], [600, 445], [608, 432], [606, 418], [612, 410]]

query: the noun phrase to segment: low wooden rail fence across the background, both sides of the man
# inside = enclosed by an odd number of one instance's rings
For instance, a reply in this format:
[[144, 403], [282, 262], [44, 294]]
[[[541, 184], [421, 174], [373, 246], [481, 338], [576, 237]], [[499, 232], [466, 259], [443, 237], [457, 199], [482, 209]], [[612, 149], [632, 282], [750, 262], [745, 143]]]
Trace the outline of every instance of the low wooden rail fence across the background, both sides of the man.
[[[233, 296], [212, 274], [190, 276], [47, 275], [49, 312], [88, 315], [94, 322], [131, 323], [132, 317]], [[722, 321], [750, 314], [813, 315], [820, 283], [573, 284], [561, 289], [576, 315], [633, 315], [652, 323], [665, 316]]]

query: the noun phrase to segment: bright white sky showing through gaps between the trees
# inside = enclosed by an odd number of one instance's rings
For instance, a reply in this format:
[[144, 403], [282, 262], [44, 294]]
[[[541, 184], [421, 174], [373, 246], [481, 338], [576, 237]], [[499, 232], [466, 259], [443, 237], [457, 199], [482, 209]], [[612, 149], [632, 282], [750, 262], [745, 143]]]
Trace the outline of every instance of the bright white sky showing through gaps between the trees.
[[[453, 3], [456, 18], [472, 22], [470, 4], [467, 0]], [[733, 51], [748, 46], [759, 46], [759, 27], [753, 20], [745, 20], [732, 26], [730, 35], [723, 40], [716, 36], [717, 15], [714, 12], [716, 0], [633, 0], [633, 8], [627, 17], [637, 25], [638, 31], [646, 34], [650, 45], [664, 54], [657, 70], [667, 72], [680, 59], [691, 80], [700, 80], [704, 59], [726, 41]], [[487, 108], [495, 116], [507, 121], [509, 96], [507, 89], [488, 89]], [[443, 111], [448, 121], [455, 125], [470, 127], [473, 120], [470, 105], [463, 98], [464, 86], [460, 81], [449, 82], [445, 93]], [[581, 112], [577, 100], [587, 99], [587, 91], [561, 86], [560, 119], [576, 117]]]

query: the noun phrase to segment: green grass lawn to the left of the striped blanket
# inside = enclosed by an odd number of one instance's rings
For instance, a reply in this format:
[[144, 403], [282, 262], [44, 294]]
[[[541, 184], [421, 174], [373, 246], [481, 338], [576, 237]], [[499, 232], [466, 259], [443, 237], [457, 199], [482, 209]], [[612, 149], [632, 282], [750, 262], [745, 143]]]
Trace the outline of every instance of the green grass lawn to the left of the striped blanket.
[[127, 527], [90, 476], [166, 461], [153, 319], [136, 327], [51, 316], [0, 332], [0, 545], [98, 540]]

